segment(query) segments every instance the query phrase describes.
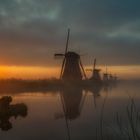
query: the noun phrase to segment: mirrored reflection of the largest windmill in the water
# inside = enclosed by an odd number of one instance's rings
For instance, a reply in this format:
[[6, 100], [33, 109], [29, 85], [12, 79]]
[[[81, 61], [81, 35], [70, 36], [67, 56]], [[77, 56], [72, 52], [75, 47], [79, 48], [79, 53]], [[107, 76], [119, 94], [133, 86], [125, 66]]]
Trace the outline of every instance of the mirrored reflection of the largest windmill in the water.
[[69, 121], [75, 120], [81, 114], [83, 108], [84, 100], [83, 89], [78, 87], [68, 87], [63, 88], [60, 92], [61, 103], [63, 108], [63, 115], [56, 116], [56, 118], [64, 118], [66, 122], [66, 130], [68, 139], [71, 140]]

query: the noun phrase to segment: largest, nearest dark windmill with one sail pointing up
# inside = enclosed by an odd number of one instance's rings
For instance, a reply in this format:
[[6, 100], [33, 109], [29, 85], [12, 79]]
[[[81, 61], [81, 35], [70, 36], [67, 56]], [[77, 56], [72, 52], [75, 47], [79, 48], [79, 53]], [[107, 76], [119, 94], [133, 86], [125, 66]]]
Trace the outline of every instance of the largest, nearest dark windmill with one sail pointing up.
[[68, 29], [66, 48], [63, 54], [55, 54], [55, 57], [63, 58], [60, 79], [64, 81], [80, 81], [86, 79], [86, 74], [80, 59], [76, 52], [68, 51], [70, 29]]

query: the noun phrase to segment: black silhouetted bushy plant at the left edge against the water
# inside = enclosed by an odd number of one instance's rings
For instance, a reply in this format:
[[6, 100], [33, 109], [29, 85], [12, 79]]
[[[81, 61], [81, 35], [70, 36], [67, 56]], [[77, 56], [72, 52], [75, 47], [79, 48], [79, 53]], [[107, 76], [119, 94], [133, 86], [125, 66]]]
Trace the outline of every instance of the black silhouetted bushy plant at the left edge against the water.
[[0, 99], [0, 128], [3, 131], [8, 131], [12, 128], [11, 117], [16, 119], [19, 116], [27, 116], [28, 108], [24, 103], [11, 105], [11, 102], [12, 97], [10, 96], [3, 96]]

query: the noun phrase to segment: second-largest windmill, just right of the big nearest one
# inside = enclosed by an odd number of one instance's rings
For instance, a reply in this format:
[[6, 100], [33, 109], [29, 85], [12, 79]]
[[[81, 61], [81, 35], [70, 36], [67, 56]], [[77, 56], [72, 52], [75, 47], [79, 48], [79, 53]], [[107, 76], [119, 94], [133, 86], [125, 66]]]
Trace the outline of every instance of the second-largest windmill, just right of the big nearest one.
[[101, 76], [100, 76], [100, 69], [96, 68], [96, 58], [94, 59], [93, 69], [87, 69], [87, 71], [92, 71], [92, 76], [90, 80], [101, 82]]

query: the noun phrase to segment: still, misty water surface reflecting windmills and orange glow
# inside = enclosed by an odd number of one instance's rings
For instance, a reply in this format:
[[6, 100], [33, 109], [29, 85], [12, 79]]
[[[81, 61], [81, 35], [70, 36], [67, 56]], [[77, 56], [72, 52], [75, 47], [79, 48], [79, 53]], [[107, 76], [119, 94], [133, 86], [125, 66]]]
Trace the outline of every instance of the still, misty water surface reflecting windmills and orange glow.
[[[1, 93], [11, 96], [11, 105], [24, 103], [26, 115], [9, 116], [4, 130], [0, 118], [1, 140], [94, 140], [127, 139], [121, 134], [117, 118], [127, 131], [127, 107], [134, 99], [140, 110], [140, 82], [123, 82], [109, 87], [56, 92]], [[117, 117], [119, 116], [119, 117]]]

